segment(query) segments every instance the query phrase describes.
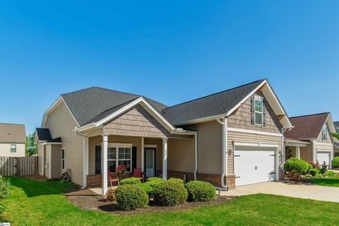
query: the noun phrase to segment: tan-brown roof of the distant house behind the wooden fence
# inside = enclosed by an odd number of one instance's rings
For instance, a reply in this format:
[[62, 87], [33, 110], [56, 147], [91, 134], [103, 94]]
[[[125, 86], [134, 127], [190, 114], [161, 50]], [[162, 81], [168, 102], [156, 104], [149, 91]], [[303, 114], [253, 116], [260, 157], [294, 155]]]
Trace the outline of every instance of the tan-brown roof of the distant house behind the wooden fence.
[[0, 143], [25, 143], [25, 125], [0, 123]]

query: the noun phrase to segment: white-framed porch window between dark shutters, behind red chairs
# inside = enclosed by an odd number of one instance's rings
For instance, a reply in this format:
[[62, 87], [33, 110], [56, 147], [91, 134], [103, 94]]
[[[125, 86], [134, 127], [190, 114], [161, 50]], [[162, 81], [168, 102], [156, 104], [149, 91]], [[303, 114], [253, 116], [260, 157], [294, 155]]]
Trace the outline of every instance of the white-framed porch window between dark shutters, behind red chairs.
[[130, 147], [108, 147], [107, 167], [111, 172], [115, 172], [118, 165], [124, 164], [126, 172], [131, 172], [132, 151]]

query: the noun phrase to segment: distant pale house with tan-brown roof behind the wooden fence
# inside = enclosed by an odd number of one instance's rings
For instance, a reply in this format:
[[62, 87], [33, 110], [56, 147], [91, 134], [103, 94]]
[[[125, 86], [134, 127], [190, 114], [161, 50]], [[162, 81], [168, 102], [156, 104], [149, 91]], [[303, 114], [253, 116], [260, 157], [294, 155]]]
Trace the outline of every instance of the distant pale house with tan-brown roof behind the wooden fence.
[[25, 156], [25, 125], [0, 123], [0, 156]]

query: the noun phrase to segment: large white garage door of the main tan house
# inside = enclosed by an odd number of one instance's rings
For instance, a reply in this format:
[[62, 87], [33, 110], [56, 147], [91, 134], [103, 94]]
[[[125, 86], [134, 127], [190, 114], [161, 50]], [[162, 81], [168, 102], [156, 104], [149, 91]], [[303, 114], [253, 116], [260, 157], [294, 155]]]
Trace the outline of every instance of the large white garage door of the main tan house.
[[269, 148], [235, 148], [235, 186], [275, 180], [275, 150]]

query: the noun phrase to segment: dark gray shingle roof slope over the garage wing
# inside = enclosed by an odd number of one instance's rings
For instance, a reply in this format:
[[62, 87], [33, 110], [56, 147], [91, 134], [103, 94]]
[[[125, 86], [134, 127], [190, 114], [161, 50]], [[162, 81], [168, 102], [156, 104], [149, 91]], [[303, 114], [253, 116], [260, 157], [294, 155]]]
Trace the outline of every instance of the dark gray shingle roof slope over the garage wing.
[[211, 117], [218, 114], [225, 114], [244, 97], [249, 95], [263, 80], [255, 81], [237, 88], [225, 90], [220, 93], [201, 97], [196, 100], [184, 102], [179, 105], [162, 109], [162, 115], [172, 124], [181, 124], [184, 121]]

